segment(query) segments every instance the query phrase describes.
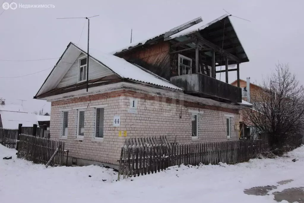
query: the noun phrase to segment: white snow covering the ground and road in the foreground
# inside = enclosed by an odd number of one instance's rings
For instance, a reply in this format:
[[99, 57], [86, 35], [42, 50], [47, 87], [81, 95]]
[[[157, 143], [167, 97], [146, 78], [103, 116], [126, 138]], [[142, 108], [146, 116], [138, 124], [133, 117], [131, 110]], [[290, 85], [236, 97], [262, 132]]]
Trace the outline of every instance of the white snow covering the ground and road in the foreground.
[[[289, 157], [251, 159], [236, 165], [173, 166], [165, 172], [132, 178], [133, 181], [116, 181], [116, 172], [100, 166], [45, 168], [16, 159], [15, 153], [0, 145], [0, 202], [263, 203], [276, 202], [274, 191], [304, 187], [304, 146], [289, 152]], [[3, 160], [4, 156], [13, 158]], [[295, 158], [299, 161], [292, 162]], [[288, 179], [294, 181], [278, 186], [278, 181]], [[278, 188], [266, 196], [243, 192], [266, 185]]]

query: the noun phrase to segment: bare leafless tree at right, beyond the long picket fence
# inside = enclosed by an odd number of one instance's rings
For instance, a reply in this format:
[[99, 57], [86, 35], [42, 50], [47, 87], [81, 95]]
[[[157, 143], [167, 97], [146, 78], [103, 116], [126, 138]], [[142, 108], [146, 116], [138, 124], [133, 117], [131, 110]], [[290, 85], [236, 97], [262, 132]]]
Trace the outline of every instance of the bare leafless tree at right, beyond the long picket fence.
[[286, 145], [304, 130], [304, 88], [288, 64], [276, 65], [263, 81], [262, 89], [251, 95], [252, 109], [244, 117], [258, 131], [270, 135], [272, 149], [282, 153]]

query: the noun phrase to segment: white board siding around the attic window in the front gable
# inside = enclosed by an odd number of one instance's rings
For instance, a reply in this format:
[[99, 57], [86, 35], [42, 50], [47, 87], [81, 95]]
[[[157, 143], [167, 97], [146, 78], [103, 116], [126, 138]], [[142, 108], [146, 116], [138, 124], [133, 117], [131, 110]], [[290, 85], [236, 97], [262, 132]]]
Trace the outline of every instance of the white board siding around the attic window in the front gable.
[[[81, 53], [76, 61], [73, 63], [71, 68], [64, 75], [62, 80], [59, 82], [56, 88], [66, 87], [74, 85], [78, 82], [78, 71], [79, 71], [79, 58], [84, 57], [85, 54]], [[113, 75], [114, 73], [106, 68], [105, 66], [97, 63], [94, 59], [89, 60], [89, 80], [98, 79], [108, 75]]]

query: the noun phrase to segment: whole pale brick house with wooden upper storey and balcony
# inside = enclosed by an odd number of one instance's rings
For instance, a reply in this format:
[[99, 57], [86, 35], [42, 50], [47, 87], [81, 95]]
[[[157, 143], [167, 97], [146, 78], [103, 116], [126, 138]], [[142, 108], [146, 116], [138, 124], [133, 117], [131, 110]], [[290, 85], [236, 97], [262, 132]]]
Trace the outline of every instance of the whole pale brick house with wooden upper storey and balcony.
[[224, 62], [228, 72], [237, 64], [239, 72], [249, 60], [229, 16], [201, 21], [114, 55], [90, 50], [89, 62], [85, 49], [68, 44], [34, 98], [51, 102], [50, 138], [65, 140], [69, 162], [115, 167], [126, 138], [239, 139], [239, 110], [248, 103], [241, 88], [215, 78], [216, 66]]

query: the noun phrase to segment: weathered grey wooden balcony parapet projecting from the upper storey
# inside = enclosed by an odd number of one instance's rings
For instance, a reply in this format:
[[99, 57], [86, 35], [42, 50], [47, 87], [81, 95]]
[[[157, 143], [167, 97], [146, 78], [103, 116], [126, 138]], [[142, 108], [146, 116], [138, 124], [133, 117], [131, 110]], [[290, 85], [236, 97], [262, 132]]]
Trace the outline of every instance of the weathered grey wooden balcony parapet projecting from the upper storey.
[[242, 102], [241, 88], [201, 73], [174, 76], [171, 83], [183, 88], [187, 94], [232, 103]]

